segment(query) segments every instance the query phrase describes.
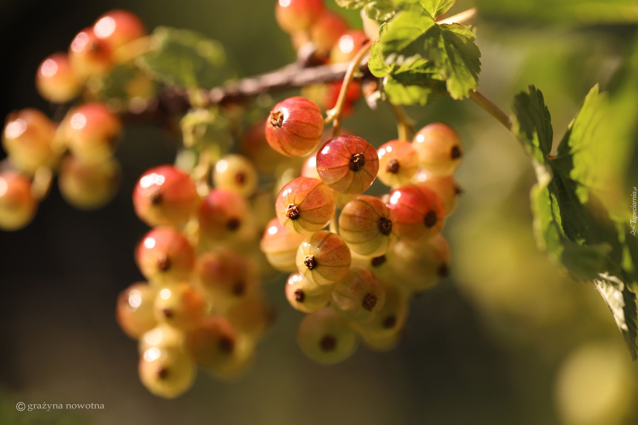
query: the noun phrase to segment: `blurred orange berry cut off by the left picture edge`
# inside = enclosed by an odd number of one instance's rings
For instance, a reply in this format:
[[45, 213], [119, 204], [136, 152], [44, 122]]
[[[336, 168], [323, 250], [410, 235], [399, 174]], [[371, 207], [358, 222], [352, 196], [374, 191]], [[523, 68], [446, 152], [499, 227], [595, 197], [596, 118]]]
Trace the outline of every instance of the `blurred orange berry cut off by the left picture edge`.
[[31, 180], [16, 171], [0, 173], [0, 229], [22, 229], [33, 220], [37, 207], [38, 201], [31, 193]]

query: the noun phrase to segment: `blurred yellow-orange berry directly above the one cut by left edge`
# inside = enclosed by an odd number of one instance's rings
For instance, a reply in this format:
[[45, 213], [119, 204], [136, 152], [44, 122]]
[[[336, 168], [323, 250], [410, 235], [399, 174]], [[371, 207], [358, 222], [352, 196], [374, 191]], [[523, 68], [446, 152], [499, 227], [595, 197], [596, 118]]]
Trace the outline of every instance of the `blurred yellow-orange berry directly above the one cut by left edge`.
[[11, 163], [33, 175], [52, 160], [51, 142], [56, 124], [37, 109], [26, 108], [6, 117], [2, 145]]

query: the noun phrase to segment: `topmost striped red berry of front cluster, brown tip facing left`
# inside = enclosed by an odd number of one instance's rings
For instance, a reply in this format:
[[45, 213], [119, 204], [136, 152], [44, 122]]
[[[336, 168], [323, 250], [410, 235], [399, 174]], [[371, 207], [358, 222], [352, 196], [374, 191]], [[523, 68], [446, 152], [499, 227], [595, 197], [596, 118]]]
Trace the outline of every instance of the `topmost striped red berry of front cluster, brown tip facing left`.
[[288, 97], [272, 108], [265, 135], [271, 148], [289, 157], [308, 155], [323, 134], [323, 115], [313, 101]]

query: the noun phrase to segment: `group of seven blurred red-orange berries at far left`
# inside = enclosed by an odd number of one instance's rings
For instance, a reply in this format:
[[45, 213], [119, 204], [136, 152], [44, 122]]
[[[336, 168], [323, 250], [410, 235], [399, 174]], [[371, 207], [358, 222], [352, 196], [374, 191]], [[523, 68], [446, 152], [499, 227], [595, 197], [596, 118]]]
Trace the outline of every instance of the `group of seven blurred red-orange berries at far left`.
[[[91, 78], [112, 69], [117, 52], [145, 34], [132, 13], [106, 13], [75, 36], [68, 54], [41, 62], [38, 92], [52, 103], [72, 101]], [[87, 210], [105, 205], [121, 176], [113, 157], [121, 129], [119, 116], [97, 101], [73, 106], [60, 124], [33, 108], [11, 113], [2, 134], [8, 161], [0, 165], [0, 228], [15, 230], [31, 222], [54, 171], [71, 205]]]

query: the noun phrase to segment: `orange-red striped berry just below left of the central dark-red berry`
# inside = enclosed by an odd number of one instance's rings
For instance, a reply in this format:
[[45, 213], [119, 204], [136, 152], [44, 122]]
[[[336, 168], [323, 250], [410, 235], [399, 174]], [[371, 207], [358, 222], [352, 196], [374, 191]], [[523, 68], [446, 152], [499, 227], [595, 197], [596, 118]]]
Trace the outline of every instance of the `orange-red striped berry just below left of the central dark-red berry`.
[[334, 196], [321, 180], [297, 177], [286, 184], [277, 200], [279, 222], [294, 233], [313, 233], [323, 229], [334, 213]]

